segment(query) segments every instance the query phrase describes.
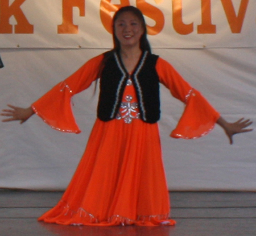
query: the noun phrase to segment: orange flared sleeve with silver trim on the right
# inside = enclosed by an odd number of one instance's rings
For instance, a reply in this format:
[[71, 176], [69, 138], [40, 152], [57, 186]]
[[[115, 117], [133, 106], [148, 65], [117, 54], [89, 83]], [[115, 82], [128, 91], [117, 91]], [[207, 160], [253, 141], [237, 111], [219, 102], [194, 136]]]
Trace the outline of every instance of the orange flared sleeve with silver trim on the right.
[[172, 96], [185, 104], [184, 112], [170, 136], [195, 139], [208, 134], [220, 117], [218, 111], [171, 64], [160, 57], [156, 63], [156, 71], [160, 82], [170, 89]]

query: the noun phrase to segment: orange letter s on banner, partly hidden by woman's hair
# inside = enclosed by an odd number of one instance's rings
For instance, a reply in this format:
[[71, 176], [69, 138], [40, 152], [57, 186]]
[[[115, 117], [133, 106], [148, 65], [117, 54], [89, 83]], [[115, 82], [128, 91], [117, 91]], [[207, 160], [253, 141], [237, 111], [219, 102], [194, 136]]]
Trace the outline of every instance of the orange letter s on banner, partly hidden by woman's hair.
[[[156, 0], [155, 0], [156, 1]], [[155, 20], [155, 26], [147, 25], [147, 34], [157, 35], [164, 27], [164, 15], [158, 8], [145, 2], [145, 0], [137, 0], [137, 7], [142, 11], [143, 15]]]

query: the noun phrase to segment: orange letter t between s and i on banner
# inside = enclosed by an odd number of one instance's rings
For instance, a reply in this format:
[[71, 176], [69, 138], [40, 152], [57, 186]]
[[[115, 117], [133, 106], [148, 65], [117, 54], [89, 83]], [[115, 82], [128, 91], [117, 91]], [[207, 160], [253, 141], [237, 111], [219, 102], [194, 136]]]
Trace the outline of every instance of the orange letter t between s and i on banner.
[[182, 20], [182, 0], [172, 0], [172, 24], [178, 34], [188, 35], [193, 32], [193, 23], [184, 24]]

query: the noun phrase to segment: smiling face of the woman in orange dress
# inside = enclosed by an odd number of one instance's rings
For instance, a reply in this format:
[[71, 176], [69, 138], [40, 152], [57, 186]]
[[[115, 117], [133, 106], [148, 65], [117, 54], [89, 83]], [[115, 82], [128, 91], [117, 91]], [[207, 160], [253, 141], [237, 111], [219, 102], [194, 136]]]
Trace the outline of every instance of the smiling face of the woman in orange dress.
[[114, 22], [114, 34], [122, 47], [140, 47], [140, 39], [144, 30], [142, 22], [131, 11], [118, 16]]

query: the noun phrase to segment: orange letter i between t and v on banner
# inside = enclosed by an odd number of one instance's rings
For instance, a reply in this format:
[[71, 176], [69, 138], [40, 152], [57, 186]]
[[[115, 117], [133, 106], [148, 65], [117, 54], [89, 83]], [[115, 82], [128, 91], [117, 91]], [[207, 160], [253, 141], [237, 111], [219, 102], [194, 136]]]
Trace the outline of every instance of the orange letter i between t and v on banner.
[[201, 0], [202, 24], [197, 26], [198, 34], [216, 34], [216, 25], [212, 24], [210, 0]]

